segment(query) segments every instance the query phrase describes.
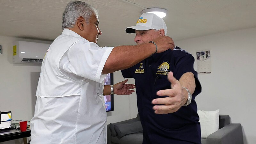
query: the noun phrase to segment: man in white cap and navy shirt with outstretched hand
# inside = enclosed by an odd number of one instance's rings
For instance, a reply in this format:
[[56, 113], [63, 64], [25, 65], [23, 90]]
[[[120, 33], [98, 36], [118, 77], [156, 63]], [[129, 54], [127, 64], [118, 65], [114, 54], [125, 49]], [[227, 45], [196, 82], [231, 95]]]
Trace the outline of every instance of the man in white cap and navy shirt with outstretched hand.
[[[153, 39], [167, 34], [167, 28], [162, 18], [144, 13], [126, 32], [135, 33], [134, 41], [140, 45], [154, 43]], [[175, 47], [122, 70], [124, 78], [135, 79], [143, 144], [201, 143], [195, 101], [201, 85], [193, 65], [194, 57]]]

